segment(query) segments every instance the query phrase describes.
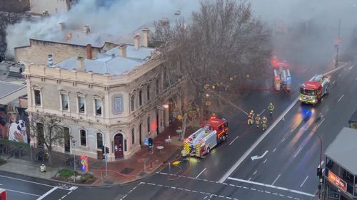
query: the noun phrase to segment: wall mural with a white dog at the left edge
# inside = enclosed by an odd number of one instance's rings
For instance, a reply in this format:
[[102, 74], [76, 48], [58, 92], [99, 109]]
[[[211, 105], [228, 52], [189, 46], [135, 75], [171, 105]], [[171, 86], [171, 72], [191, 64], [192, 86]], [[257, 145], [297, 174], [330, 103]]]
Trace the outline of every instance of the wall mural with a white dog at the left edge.
[[29, 144], [26, 130], [28, 117], [19, 107], [0, 107], [0, 139]]

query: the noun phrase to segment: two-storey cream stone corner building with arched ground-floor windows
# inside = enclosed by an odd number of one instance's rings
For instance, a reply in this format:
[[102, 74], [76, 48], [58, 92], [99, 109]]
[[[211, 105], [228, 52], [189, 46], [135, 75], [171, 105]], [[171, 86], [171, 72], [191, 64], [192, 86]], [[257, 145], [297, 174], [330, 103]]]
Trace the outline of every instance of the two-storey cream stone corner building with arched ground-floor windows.
[[[73, 136], [59, 152], [101, 157], [109, 147], [109, 160], [129, 158], [155, 137], [178, 112], [174, 85], [154, 48], [149, 48], [149, 30], [134, 37], [134, 45], [121, 44], [95, 58], [69, 58], [56, 65], [27, 65], [29, 115], [48, 112], [59, 115]], [[168, 106], [170, 105], [170, 107]], [[40, 125], [41, 126], [41, 125]], [[41, 134], [46, 134], [42, 132]], [[73, 145], [73, 141], [75, 145]], [[31, 145], [39, 146], [36, 138]]]

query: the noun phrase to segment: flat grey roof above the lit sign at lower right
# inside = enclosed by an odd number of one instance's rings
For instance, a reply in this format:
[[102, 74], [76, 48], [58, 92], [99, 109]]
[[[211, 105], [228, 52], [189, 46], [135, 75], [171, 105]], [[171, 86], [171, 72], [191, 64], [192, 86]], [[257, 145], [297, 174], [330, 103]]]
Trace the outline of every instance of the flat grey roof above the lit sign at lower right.
[[330, 147], [326, 149], [325, 155], [336, 162], [339, 166], [352, 174], [357, 174], [357, 159], [353, 155], [357, 152], [357, 130], [343, 127], [338, 133]]

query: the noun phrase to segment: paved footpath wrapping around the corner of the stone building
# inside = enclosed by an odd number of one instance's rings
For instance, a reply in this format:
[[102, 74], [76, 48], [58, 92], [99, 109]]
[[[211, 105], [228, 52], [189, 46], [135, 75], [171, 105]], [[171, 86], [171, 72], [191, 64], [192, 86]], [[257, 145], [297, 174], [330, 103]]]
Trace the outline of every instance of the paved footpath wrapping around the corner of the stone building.
[[[130, 159], [108, 162], [107, 171], [104, 160], [89, 159], [89, 172], [97, 178], [91, 185], [110, 186], [135, 181], [146, 177], [159, 167], [166, 165], [168, 161], [173, 162], [176, 159], [180, 159], [181, 155], [178, 150], [182, 147], [182, 141], [176, 132], [176, 130], [180, 128], [181, 122], [174, 122], [154, 138], [154, 150], [152, 153], [149, 153], [148, 146], [141, 147]], [[186, 135], [192, 132], [193, 130], [188, 128]], [[165, 140], [169, 137], [171, 142], [166, 142]], [[157, 149], [159, 146], [163, 148]], [[63, 157], [63, 155], [61, 156]], [[58, 160], [56, 161], [57, 157], [57, 155], [54, 155], [54, 164], [52, 167], [46, 164], [46, 172], [40, 172], [42, 163], [31, 161], [29, 155], [25, 154], [21, 157], [13, 157], [9, 154], [1, 154], [0, 152], [0, 159], [6, 160], [5, 164], [0, 165], [0, 172], [21, 174], [27, 177], [41, 179], [52, 179], [56, 177], [60, 169], [74, 169], [73, 166], [61, 166], [61, 164], [58, 164]], [[71, 157], [71, 159], [73, 160], [73, 157]], [[77, 167], [77, 169], [79, 169], [79, 167]]]

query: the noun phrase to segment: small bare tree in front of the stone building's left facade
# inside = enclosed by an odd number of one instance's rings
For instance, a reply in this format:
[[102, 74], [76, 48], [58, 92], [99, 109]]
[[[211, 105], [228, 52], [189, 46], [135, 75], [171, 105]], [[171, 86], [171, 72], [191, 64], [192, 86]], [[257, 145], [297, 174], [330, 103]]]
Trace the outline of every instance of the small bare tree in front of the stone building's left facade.
[[61, 118], [49, 113], [34, 113], [30, 123], [31, 137], [37, 140], [38, 145], [44, 145], [49, 152], [49, 165], [52, 165], [52, 150], [55, 146], [64, 145], [71, 135], [64, 130]]

